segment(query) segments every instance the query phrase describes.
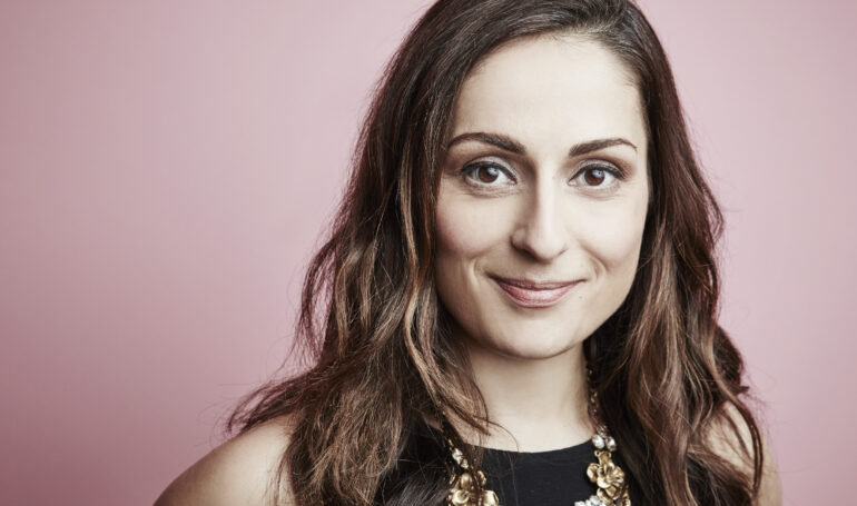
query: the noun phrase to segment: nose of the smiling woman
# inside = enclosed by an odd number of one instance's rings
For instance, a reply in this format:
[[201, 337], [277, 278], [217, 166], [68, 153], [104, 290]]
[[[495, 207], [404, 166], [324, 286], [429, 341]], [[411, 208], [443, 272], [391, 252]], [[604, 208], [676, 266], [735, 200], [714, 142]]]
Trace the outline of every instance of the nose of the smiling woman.
[[520, 220], [512, 232], [512, 245], [541, 262], [569, 249], [568, 212], [559, 189], [542, 183], [522, 202]]

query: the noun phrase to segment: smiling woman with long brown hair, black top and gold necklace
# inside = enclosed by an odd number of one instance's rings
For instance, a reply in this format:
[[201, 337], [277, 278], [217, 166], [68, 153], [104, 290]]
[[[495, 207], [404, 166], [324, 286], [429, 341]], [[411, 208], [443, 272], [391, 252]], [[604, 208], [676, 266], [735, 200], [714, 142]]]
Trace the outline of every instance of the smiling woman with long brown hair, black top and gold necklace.
[[304, 285], [312, 366], [159, 505], [779, 504], [716, 320], [721, 215], [634, 4], [439, 1], [357, 155]]

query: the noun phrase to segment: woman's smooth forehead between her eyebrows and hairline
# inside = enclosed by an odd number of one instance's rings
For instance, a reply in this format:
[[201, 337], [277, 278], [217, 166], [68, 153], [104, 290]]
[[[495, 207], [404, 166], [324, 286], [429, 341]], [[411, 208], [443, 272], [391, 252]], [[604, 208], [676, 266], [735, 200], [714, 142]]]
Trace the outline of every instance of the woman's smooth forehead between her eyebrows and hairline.
[[[640, 96], [615, 54], [577, 36], [515, 39], [467, 75], [452, 136], [502, 131], [528, 143], [628, 137], [644, 146]], [[545, 146], [548, 147], [548, 146]]]

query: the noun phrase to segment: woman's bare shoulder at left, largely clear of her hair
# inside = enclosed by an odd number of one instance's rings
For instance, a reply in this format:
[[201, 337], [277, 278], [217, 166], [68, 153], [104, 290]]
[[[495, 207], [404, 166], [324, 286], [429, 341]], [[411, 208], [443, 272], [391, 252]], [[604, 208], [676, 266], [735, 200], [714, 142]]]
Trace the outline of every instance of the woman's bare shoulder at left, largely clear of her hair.
[[[229, 439], [179, 475], [155, 506], [272, 505], [275, 477], [290, 434], [290, 419], [278, 417]], [[287, 489], [280, 494], [292, 504]]]

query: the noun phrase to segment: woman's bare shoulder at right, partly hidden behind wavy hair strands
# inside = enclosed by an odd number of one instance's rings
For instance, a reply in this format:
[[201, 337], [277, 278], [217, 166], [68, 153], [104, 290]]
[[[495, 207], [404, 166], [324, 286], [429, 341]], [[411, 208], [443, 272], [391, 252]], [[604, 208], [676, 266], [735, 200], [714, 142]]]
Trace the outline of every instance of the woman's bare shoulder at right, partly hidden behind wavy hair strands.
[[[738, 428], [740, 440], [736, 440], [735, 434], [729, 427], [729, 419]], [[715, 452], [739, 469], [745, 470], [748, 475], [752, 474], [752, 436], [750, 427], [735, 406], [727, 404], [723, 417], [719, 423], [715, 424], [709, 436]], [[766, 440], [765, 435], [760, 434], [760, 436], [764, 465], [759, 497], [756, 504], [758, 506], [780, 506], [782, 504], [782, 488], [779, 474], [777, 473], [777, 464], [774, 460], [770, 445]], [[742, 445], [749, 449], [749, 457], [742, 450]]]

